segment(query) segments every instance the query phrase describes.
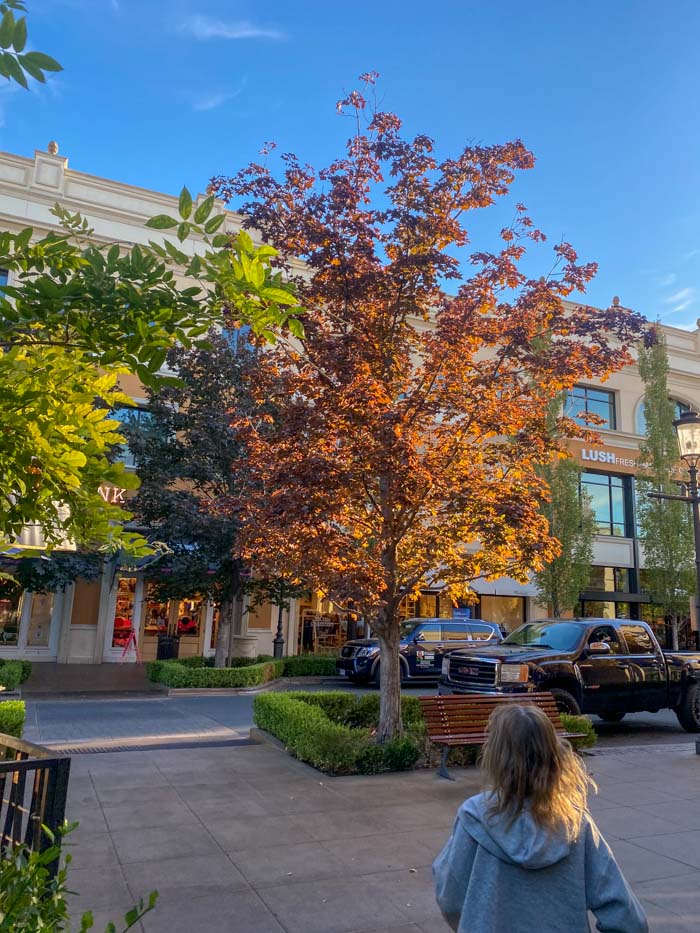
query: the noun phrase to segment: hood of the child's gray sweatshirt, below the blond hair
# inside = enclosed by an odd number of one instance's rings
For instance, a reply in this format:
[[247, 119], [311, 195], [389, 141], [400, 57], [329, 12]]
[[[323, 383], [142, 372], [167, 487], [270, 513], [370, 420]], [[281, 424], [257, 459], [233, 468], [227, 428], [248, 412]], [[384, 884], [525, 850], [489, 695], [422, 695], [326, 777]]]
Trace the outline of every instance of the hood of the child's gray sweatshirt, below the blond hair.
[[509, 826], [504, 815], [489, 813], [489, 800], [488, 794], [465, 800], [459, 819], [472, 839], [502, 862], [521, 868], [547, 868], [571, 851], [564, 836], [541, 829], [528, 810]]

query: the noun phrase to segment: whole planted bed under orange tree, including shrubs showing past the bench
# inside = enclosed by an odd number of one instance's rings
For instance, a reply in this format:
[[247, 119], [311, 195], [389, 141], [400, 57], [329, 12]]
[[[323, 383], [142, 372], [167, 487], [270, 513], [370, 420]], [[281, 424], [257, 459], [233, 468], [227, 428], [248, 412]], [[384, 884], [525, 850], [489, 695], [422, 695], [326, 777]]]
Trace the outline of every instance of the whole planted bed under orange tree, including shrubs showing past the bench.
[[[284, 744], [287, 751], [326, 774], [378, 774], [435, 767], [439, 750], [431, 745], [417, 697], [402, 697], [404, 734], [378, 745], [379, 694], [294, 691], [255, 698], [255, 725]], [[562, 717], [563, 721], [564, 717]], [[582, 716], [567, 716], [569, 731], [583, 732], [577, 748], [595, 744], [595, 731]], [[479, 749], [455, 748], [452, 765], [475, 764]]]

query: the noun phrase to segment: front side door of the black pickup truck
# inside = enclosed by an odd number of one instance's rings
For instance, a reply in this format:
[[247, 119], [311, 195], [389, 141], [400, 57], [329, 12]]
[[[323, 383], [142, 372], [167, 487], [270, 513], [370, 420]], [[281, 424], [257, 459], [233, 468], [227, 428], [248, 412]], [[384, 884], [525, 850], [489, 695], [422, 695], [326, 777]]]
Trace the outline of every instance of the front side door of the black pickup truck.
[[[589, 653], [589, 646], [604, 642], [607, 654]], [[579, 661], [583, 680], [583, 711], [630, 711], [635, 701], [629, 658], [612, 625], [597, 625], [591, 629]]]

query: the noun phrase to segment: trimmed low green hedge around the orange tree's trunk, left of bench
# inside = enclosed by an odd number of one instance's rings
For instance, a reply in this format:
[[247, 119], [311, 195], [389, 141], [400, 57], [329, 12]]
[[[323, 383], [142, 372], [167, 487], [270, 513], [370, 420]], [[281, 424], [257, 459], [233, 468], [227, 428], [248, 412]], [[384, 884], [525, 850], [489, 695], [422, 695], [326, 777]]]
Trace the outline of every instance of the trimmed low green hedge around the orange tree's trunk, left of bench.
[[296, 758], [327, 774], [412, 768], [421, 754], [419, 736], [404, 735], [377, 745], [369, 728], [347, 724], [370, 718], [367, 699], [335, 692], [267, 693], [255, 698], [253, 718]]

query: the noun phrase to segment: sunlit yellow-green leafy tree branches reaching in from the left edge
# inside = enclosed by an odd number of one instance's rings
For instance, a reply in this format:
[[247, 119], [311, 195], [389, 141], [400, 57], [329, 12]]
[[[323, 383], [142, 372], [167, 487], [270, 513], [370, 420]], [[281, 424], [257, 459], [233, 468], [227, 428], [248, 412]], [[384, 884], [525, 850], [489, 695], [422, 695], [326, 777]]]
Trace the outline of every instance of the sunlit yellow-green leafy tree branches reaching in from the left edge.
[[196, 234], [189, 254], [168, 239], [95, 243], [87, 222], [58, 205], [60, 232], [0, 233], [0, 267], [14, 273], [0, 296], [0, 548], [35, 523], [49, 546], [142, 553], [144, 540], [124, 529], [129, 513], [99, 491], [138, 485], [109, 456], [124, 442], [110, 411], [131, 404], [119, 376], [167, 382], [158, 373], [168, 351], [203, 346], [213, 325], [243, 323], [263, 340], [302, 333], [293, 290], [270, 265], [275, 251], [219, 233], [225, 215], [214, 206], [208, 197], [195, 209], [185, 188], [179, 218], [149, 222], [180, 242]]

